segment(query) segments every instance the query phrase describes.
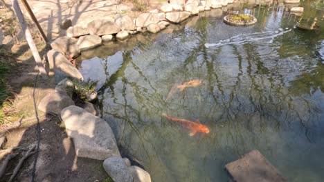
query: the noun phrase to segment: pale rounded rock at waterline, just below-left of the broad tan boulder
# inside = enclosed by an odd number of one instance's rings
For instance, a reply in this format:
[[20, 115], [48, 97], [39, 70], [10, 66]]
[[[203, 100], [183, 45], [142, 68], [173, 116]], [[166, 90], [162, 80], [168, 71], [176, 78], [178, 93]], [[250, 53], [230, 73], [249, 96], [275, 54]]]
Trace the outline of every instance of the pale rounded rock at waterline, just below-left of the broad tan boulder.
[[78, 49], [82, 50], [89, 50], [91, 48], [96, 48], [97, 46], [101, 45], [102, 39], [95, 34], [84, 35], [78, 39]]

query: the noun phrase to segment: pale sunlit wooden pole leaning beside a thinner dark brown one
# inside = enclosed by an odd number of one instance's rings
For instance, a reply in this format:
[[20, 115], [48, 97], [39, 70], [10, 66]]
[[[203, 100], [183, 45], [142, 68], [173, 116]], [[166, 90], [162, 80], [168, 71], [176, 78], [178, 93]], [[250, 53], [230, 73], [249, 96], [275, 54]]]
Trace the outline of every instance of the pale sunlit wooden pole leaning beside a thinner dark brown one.
[[12, 2], [12, 7], [14, 8], [15, 13], [16, 13], [18, 19], [19, 19], [19, 23], [21, 24], [21, 28], [25, 32], [25, 37], [26, 37], [26, 40], [28, 42], [29, 48], [33, 52], [33, 57], [35, 59], [38, 70], [41, 73], [42, 77], [47, 79], [48, 77], [47, 77], [47, 73], [46, 73], [46, 70], [44, 68], [44, 65], [42, 63], [42, 59], [39, 56], [39, 52], [38, 52], [38, 50], [36, 48], [36, 45], [35, 45], [35, 42], [33, 40], [32, 34], [30, 33], [29, 28], [27, 27], [27, 23], [26, 23], [26, 21], [24, 19], [24, 16], [23, 16], [22, 12], [21, 12], [19, 4], [18, 4], [17, 0], [12, 0], [11, 2]]

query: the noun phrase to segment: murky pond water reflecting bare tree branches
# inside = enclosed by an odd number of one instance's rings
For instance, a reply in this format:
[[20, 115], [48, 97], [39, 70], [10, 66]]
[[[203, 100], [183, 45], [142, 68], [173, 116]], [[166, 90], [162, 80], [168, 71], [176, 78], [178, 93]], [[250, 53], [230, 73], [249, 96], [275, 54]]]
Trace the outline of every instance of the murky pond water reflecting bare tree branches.
[[[320, 14], [319, 30], [299, 30], [300, 17], [283, 7], [233, 9], [257, 17], [249, 27], [228, 26], [226, 12], [213, 10], [83, 52], [80, 70], [103, 85], [102, 117], [154, 182], [227, 181], [224, 165], [254, 149], [288, 181], [323, 181], [323, 14], [305, 8]], [[201, 85], [165, 101], [192, 79]], [[199, 119], [210, 132], [189, 136], [162, 113]]]

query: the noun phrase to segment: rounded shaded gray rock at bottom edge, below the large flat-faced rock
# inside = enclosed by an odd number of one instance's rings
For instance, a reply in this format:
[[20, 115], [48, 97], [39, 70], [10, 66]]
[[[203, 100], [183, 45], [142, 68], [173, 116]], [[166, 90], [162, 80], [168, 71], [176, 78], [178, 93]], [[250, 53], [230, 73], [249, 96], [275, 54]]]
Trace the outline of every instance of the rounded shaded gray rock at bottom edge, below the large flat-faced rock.
[[103, 163], [105, 171], [115, 182], [133, 182], [133, 176], [120, 156], [111, 156]]

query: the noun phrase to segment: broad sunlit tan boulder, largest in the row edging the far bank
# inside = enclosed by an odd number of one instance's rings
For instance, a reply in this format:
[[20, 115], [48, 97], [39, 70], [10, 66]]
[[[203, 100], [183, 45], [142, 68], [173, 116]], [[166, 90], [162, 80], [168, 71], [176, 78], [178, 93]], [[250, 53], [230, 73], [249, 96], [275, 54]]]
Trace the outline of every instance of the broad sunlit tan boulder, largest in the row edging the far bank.
[[117, 26], [115, 20], [108, 19], [96, 19], [88, 23], [87, 29], [90, 34], [96, 34], [98, 36], [104, 34], [116, 34], [120, 31], [120, 27]]

